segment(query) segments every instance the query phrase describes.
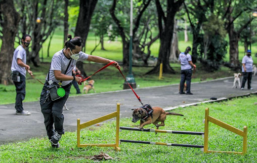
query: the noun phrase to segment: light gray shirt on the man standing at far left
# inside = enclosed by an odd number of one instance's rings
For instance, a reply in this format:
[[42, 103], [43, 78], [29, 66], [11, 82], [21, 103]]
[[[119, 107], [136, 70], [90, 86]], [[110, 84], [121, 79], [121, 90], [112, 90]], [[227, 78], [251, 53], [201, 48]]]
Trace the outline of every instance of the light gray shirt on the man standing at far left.
[[18, 65], [17, 63], [18, 58], [21, 59], [23, 63], [25, 64], [27, 63], [26, 50], [21, 45], [19, 45], [14, 51], [11, 70], [18, 71], [26, 77], [26, 69], [25, 67], [21, 67], [20, 65]]

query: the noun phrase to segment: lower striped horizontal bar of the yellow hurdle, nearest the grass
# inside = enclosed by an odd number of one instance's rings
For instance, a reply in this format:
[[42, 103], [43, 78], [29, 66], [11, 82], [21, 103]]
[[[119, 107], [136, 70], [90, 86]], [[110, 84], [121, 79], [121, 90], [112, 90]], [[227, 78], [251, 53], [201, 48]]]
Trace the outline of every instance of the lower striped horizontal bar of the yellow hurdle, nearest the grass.
[[166, 145], [166, 146], [179, 146], [179, 147], [191, 147], [191, 148], [203, 148], [203, 145], [160, 143], [160, 142], [137, 141], [137, 140], [123, 140], [123, 139], [121, 139], [120, 142], [140, 143], [140, 144], [155, 144], [155, 145]]

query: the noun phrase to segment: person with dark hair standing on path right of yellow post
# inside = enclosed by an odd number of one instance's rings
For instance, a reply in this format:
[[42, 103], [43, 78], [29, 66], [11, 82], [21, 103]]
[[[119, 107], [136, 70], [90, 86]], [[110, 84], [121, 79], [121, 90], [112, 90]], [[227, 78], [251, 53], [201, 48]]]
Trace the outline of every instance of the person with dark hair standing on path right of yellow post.
[[185, 94], [183, 92], [185, 81], [187, 80], [187, 95], [193, 95], [190, 92], [190, 85], [191, 85], [191, 76], [192, 76], [192, 66], [196, 68], [196, 66], [192, 62], [191, 55], [188, 54], [191, 51], [190, 47], [187, 47], [185, 52], [180, 53], [179, 61], [181, 64], [181, 80], [180, 80], [180, 92], [179, 94]]

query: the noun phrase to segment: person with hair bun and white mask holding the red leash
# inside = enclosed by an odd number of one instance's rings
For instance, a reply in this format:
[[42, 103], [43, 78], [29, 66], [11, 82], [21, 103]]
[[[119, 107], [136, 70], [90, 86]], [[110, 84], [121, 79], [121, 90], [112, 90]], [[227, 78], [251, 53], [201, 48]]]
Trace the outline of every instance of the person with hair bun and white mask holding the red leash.
[[[72, 70], [76, 62], [84, 60], [105, 64], [112, 62], [109, 59], [81, 52], [81, 37], [72, 38], [71, 35], [68, 35], [68, 38], [69, 40], [64, 43], [64, 49], [55, 53], [52, 58], [50, 69], [46, 77], [46, 83], [40, 95], [41, 112], [44, 115], [47, 135], [53, 148], [59, 147], [59, 140], [64, 134], [64, 116], [62, 111], [69, 96], [72, 80], [77, 82], [81, 80], [81, 77], [72, 75]], [[114, 62], [112, 66], [118, 69], [120, 68], [117, 62]], [[63, 90], [61, 91], [62, 95], [59, 94], [60, 91], [58, 93], [58, 90]], [[58, 98], [59, 95], [60, 98]]]

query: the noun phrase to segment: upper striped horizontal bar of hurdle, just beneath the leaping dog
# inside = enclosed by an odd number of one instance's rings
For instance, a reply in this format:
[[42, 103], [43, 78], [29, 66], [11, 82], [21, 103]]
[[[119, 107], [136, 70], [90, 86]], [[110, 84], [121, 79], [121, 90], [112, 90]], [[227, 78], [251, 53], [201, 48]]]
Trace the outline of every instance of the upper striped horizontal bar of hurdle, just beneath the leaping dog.
[[[119, 129], [120, 130], [141, 131], [139, 128], [119, 127]], [[155, 130], [155, 129], [144, 129], [143, 131], [144, 132], [153, 132], [153, 133], [204, 135], [204, 132], [192, 132], [192, 131], [173, 131], [173, 130]]]

